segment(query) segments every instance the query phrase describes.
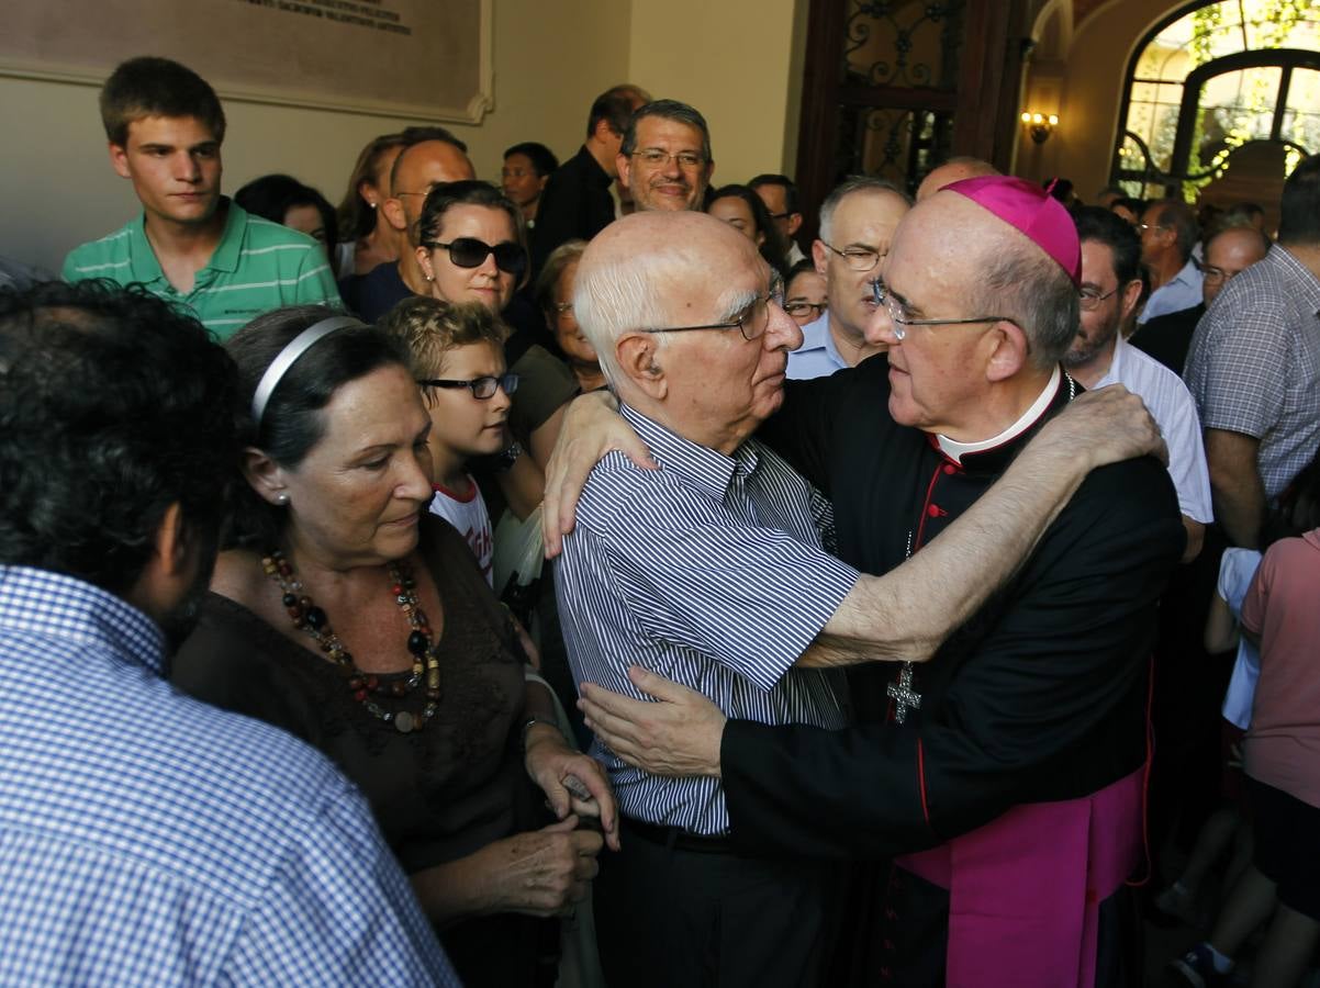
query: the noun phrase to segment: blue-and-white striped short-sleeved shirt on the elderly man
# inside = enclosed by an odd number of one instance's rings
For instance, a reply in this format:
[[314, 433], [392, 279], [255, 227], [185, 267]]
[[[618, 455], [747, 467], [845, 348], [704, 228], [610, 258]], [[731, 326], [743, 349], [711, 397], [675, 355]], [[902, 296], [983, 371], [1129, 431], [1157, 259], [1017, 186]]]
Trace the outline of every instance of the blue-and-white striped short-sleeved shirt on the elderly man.
[[[725, 456], [620, 413], [660, 470], [612, 452], [582, 492], [554, 579], [576, 681], [644, 699], [627, 678], [640, 665], [730, 718], [843, 727], [842, 675], [792, 667], [858, 579], [821, 547], [829, 503], [755, 439]], [[718, 780], [648, 776], [599, 741], [593, 755], [626, 815], [729, 830]]]

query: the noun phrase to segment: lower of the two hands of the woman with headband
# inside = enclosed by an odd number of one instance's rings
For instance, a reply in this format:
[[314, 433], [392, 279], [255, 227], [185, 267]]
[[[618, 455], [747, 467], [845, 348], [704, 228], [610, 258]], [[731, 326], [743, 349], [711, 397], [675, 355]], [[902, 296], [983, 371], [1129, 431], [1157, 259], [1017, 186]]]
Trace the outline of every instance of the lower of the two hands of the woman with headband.
[[565, 915], [586, 898], [599, 871], [595, 856], [602, 840], [590, 830], [576, 830], [577, 824], [577, 817], [568, 817], [482, 848], [488, 911]]

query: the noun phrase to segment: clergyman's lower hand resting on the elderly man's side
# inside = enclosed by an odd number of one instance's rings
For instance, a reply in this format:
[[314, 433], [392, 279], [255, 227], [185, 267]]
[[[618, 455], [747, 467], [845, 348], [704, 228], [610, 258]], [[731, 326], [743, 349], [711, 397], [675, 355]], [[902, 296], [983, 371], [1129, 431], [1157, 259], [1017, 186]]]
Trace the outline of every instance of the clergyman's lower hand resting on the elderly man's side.
[[586, 726], [630, 765], [653, 776], [719, 777], [719, 743], [727, 718], [696, 690], [631, 666], [628, 679], [656, 703], [582, 683], [578, 710]]

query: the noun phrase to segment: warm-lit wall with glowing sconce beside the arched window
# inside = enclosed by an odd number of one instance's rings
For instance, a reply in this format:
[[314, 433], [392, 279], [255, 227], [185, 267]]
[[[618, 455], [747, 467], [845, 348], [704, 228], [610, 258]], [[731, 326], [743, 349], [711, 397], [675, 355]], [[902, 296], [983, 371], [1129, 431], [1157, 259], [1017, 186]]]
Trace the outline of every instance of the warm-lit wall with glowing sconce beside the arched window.
[[1038, 50], [1024, 103], [1041, 112], [1056, 106], [1059, 128], [1043, 145], [1019, 142], [1016, 173], [1041, 179], [1064, 175], [1086, 202], [1109, 183], [1109, 165], [1123, 99], [1127, 65], [1138, 42], [1181, 3], [1111, 0], [1076, 25], [1065, 50]]

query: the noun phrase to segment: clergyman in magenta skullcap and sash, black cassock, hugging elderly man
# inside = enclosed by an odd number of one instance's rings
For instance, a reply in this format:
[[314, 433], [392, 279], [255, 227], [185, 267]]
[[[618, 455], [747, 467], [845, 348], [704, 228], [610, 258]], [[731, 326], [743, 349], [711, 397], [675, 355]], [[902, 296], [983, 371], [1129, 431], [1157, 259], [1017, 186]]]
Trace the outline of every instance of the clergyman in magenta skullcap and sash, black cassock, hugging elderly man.
[[[1071, 216], [1020, 179], [954, 183], [899, 224], [867, 326], [888, 360], [789, 386], [758, 433], [829, 495], [845, 562], [886, 572], [946, 547], [940, 533], [1077, 396], [1059, 361], [1078, 282]], [[1163, 466], [1117, 463], [929, 662], [850, 673], [850, 728], [727, 719], [644, 670], [632, 683], [659, 703], [589, 683], [583, 710], [624, 761], [718, 777], [743, 853], [895, 857], [861, 893], [875, 919], [854, 930], [857, 980], [1111, 984], [1156, 602], [1184, 541]]]

